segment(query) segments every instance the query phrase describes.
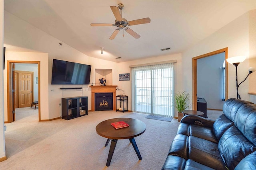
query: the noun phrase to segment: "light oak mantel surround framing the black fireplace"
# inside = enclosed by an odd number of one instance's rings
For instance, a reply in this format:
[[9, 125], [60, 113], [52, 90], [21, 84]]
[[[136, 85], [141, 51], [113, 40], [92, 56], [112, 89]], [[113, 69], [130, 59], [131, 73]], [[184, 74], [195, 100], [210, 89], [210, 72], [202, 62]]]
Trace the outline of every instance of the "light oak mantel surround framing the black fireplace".
[[90, 86], [92, 88], [92, 111], [95, 111], [95, 93], [113, 93], [113, 110], [116, 110], [116, 87], [117, 86]]

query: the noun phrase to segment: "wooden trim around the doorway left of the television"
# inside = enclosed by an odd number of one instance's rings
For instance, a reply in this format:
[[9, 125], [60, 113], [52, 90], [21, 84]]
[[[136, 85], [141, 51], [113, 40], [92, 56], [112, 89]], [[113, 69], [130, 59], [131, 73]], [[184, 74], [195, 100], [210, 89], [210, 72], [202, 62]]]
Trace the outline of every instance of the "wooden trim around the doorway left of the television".
[[38, 64], [38, 121], [41, 121], [41, 105], [40, 105], [40, 61], [7, 61], [7, 122], [4, 123], [11, 123], [11, 98], [10, 95], [10, 69], [12, 63], [28, 63], [28, 64]]

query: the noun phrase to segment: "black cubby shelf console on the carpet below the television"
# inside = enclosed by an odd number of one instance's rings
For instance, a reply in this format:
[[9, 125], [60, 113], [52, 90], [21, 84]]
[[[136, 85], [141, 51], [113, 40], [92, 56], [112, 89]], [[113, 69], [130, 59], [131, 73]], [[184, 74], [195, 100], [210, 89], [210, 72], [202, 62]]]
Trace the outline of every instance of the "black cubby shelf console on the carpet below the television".
[[62, 119], [69, 120], [88, 115], [88, 97], [62, 98]]

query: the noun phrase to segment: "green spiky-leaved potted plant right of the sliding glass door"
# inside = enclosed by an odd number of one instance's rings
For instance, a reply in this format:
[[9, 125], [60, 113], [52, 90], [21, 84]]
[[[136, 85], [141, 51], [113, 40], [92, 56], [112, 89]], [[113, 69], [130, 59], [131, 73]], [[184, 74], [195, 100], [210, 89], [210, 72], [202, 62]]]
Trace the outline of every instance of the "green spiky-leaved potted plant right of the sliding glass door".
[[188, 92], [177, 92], [174, 96], [174, 107], [178, 111], [178, 121], [183, 117], [182, 111], [188, 108], [189, 93]]

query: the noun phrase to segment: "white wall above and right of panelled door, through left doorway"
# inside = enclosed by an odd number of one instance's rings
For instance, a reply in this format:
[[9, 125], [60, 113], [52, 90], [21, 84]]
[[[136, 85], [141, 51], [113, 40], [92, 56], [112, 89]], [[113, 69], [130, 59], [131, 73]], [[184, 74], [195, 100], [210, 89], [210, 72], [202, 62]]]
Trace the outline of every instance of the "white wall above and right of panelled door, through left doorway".
[[34, 89], [34, 101], [38, 101], [38, 84], [36, 84], [36, 78], [38, 77], [38, 66], [37, 64], [25, 64], [25, 63], [16, 63], [15, 70], [19, 71], [31, 71], [34, 72], [33, 77], [33, 89]]

